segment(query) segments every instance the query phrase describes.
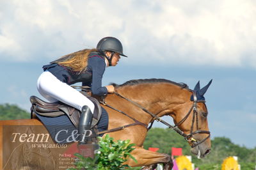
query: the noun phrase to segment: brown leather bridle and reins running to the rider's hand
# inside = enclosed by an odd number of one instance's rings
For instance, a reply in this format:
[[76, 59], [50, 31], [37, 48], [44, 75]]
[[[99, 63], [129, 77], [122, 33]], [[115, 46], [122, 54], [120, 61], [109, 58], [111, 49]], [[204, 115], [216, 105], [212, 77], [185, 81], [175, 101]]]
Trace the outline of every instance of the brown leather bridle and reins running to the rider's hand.
[[[186, 141], [188, 141], [191, 144], [191, 148], [194, 148], [195, 146], [198, 146], [199, 144], [204, 143], [204, 141], [206, 141], [210, 137], [210, 132], [207, 131], [207, 130], [199, 130], [197, 103], [199, 103], [199, 102], [205, 103], [205, 100], [197, 100], [196, 92], [194, 90], [191, 90], [191, 91], [193, 92], [193, 98], [194, 98], [193, 105], [189, 109], [186, 116], [184, 116], [184, 118], [182, 118], [182, 120], [180, 120], [179, 123], [176, 123], [174, 126], [170, 125], [166, 121], [162, 120], [159, 116], [156, 116], [156, 114], [153, 114], [152, 112], [148, 111], [147, 109], [145, 109], [141, 105], [137, 104], [136, 102], [133, 102], [129, 98], [125, 98], [122, 95], [120, 95], [119, 93], [116, 93], [116, 92], [114, 92], [114, 93], [118, 97], [124, 98], [125, 100], [131, 102], [132, 104], [136, 105], [137, 107], [140, 107], [140, 109], [142, 109], [143, 111], [150, 114], [154, 118], [154, 120], [163, 123], [164, 125], [166, 125], [168, 128], [170, 128], [172, 130], [175, 130], [178, 134], [182, 135], [186, 139]], [[187, 118], [189, 117], [189, 114], [191, 113], [192, 110], [193, 110], [193, 120], [192, 120], [192, 124], [191, 124], [191, 128], [190, 128], [190, 133], [185, 134], [182, 130], [180, 130], [180, 128], [178, 126], [181, 125], [182, 123], [184, 123], [184, 121], [187, 120]], [[193, 132], [195, 121], [196, 121], [196, 131]], [[205, 137], [201, 141], [197, 141], [195, 138], [193, 138], [193, 135], [195, 135], [195, 134], [208, 134], [208, 135], [207, 135], [207, 137]]]

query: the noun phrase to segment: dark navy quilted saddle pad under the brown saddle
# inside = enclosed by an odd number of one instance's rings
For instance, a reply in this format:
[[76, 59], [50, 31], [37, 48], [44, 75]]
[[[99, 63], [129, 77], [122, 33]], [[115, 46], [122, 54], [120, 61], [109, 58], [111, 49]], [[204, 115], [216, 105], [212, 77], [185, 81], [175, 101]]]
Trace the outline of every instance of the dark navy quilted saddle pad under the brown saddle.
[[[36, 116], [42, 121], [47, 128], [52, 140], [56, 143], [65, 144], [78, 141], [78, 130], [69, 120], [67, 115], [61, 115], [58, 117], [46, 117], [36, 114]], [[98, 131], [108, 130], [108, 112], [102, 108], [102, 114], [100, 120], [97, 123]], [[100, 134], [102, 136], [103, 134]]]

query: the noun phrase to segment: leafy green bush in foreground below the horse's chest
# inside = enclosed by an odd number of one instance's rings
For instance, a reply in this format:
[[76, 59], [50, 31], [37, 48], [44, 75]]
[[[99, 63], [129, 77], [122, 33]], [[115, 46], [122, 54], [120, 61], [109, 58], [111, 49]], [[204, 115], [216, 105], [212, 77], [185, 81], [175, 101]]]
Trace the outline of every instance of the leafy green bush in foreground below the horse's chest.
[[113, 137], [98, 137], [99, 139], [99, 153], [95, 154], [95, 158], [84, 158], [79, 153], [76, 153], [76, 157], [79, 161], [76, 162], [77, 169], [98, 169], [98, 170], [118, 170], [129, 168], [127, 164], [124, 164], [128, 158], [132, 158], [136, 162], [136, 159], [132, 157], [131, 151], [134, 150], [132, 146], [135, 144], [129, 144], [130, 140], [114, 142]]

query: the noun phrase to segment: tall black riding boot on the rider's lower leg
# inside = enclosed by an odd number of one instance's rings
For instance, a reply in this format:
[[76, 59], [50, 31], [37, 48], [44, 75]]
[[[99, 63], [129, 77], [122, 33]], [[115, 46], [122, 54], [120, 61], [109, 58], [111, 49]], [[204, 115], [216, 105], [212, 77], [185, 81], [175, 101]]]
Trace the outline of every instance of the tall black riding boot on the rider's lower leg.
[[86, 144], [91, 141], [91, 137], [95, 135], [93, 130], [91, 130], [93, 114], [87, 105], [82, 107], [82, 112], [79, 120], [79, 143]]

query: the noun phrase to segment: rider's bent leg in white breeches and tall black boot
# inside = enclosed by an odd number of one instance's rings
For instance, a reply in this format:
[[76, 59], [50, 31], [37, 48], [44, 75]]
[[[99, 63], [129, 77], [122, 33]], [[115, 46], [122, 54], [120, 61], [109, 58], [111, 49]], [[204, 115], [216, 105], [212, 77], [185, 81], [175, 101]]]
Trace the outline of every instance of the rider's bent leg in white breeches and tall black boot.
[[[44, 72], [40, 75], [37, 82], [37, 88], [39, 93], [50, 102], [59, 100], [81, 111], [79, 120], [79, 141], [81, 143], [88, 141], [88, 137], [86, 140], [83, 140], [83, 138], [81, 138], [83, 135], [81, 134], [86, 132], [89, 133], [88, 130], [90, 130], [90, 125], [92, 124], [94, 111], [93, 102], [76, 89], [58, 80], [50, 72]], [[91, 132], [94, 133], [93, 131]]]

